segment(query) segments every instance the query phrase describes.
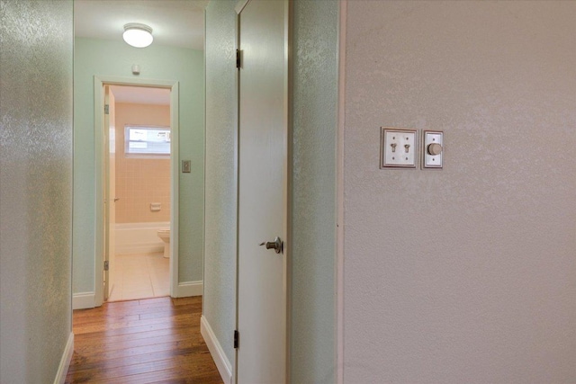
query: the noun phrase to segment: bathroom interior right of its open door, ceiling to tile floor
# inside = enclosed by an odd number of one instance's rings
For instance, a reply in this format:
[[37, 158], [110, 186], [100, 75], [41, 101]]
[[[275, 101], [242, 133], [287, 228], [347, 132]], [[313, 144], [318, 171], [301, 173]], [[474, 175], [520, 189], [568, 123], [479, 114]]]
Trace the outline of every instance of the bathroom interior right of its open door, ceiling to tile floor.
[[170, 91], [112, 85], [110, 93], [115, 246], [108, 301], [168, 296]]

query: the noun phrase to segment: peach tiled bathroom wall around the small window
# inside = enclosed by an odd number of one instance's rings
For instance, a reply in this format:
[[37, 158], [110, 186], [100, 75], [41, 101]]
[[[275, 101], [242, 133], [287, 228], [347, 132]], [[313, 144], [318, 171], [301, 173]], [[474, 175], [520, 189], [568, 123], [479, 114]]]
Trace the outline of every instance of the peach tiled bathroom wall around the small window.
[[[127, 125], [170, 127], [170, 106], [116, 103], [116, 222], [170, 221], [170, 159], [126, 157]], [[162, 209], [150, 210], [151, 202], [161, 203]]]

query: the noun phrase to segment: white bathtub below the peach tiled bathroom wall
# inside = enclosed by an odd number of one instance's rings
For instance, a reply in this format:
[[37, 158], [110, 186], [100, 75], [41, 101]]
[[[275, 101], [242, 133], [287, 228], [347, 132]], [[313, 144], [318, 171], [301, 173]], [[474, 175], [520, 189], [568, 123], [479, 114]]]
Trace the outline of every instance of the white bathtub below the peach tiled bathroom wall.
[[116, 255], [153, 254], [164, 252], [164, 243], [157, 237], [158, 229], [170, 228], [170, 223], [117, 223], [114, 234]]

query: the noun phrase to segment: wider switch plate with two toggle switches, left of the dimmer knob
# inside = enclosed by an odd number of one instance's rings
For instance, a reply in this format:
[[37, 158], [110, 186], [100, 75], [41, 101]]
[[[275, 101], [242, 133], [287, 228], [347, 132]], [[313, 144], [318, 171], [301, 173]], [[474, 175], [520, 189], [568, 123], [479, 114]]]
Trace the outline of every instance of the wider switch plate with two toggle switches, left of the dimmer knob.
[[381, 128], [380, 168], [416, 168], [417, 130]]

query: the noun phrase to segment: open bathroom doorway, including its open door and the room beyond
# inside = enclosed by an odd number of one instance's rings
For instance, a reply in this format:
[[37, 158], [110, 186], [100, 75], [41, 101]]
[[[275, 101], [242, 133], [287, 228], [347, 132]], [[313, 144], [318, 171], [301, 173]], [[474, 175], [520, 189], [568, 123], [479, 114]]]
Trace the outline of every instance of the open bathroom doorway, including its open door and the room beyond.
[[96, 83], [94, 101], [103, 103], [103, 301], [171, 296], [177, 276], [177, 84]]

